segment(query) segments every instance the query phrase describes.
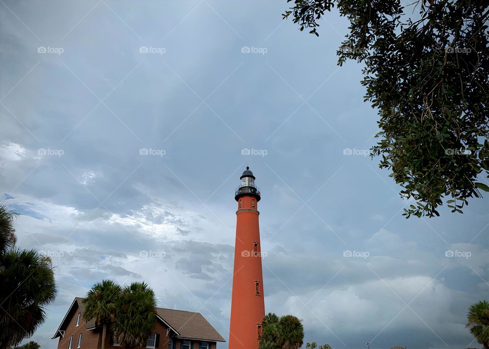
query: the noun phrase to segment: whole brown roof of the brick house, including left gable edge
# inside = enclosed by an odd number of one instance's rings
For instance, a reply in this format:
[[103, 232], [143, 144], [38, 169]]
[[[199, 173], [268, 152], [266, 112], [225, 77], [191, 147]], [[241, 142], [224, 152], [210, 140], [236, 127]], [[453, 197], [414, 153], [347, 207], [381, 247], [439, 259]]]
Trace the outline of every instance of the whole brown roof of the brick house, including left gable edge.
[[[73, 303], [71, 303], [71, 306], [68, 309], [68, 312], [63, 318], [63, 321], [61, 321], [60, 327], [52, 339], [62, 335], [61, 331], [66, 329], [76, 309], [79, 308], [82, 313], [85, 312], [83, 300], [83, 298], [75, 297]], [[219, 334], [219, 332], [216, 331], [211, 324], [209, 324], [201, 313], [166, 308], [156, 308], [155, 310], [158, 320], [162, 321], [165, 325], [172, 329], [179, 338], [201, 339], [216, 342], [226, 341]], [[92, 330], [96, 326], [95, 319], [85, 323], [85, 328], [87, 330]]]

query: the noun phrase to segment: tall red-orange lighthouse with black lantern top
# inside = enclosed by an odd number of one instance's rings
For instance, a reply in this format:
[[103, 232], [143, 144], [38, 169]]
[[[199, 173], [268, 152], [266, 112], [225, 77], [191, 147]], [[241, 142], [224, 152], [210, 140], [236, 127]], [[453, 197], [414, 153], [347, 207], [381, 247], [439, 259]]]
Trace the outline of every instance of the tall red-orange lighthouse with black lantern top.
[[240, 179], [234, 196], [238, 209], [229, 349], [258, 349], [261, 321], [265, 316], [258, 224], [260, 191], [249, 167]]

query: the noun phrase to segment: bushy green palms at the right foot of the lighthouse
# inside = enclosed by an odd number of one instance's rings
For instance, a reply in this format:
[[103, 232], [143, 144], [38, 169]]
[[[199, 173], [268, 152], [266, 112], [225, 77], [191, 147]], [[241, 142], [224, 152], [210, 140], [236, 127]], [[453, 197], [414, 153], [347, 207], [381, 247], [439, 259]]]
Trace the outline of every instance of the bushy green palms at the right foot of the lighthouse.
[[268, 313], [262, 320], [260, 349], [298, 349], [304, 340], [304, 326], [292, 315]]

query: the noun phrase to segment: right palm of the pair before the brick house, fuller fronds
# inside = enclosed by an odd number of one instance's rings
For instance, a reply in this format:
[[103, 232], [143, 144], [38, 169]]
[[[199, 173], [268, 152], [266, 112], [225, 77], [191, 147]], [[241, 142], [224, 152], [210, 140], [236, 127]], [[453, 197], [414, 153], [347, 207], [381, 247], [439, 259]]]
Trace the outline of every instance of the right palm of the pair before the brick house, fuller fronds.
[[122, 291], [112, 331], [124, 347], [146, 347], [156, 321], [153, 290], [146, 283], [134, 282]]

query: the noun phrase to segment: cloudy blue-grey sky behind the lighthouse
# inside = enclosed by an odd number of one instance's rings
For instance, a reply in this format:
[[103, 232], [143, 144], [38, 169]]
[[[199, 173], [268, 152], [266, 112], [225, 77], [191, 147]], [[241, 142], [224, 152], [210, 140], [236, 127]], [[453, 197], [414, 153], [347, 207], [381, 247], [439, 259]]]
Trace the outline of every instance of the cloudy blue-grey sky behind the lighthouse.
[[[58, 296], [32, 338], [56, 348], [74, 297], [145, 281], [159, 307], [201, 312], [229, 338], [236, 202], [262, 200], [265, 311], [334, 349], [480, 347], [487, 198], [464, 214], [401, 213], [378, 169], [362, 66], [336, 65], [285, 1], [0, 1], [0, 195], [18, 246], [49, 255]], [[220, 343], [220, 349], [227, 343]]]

